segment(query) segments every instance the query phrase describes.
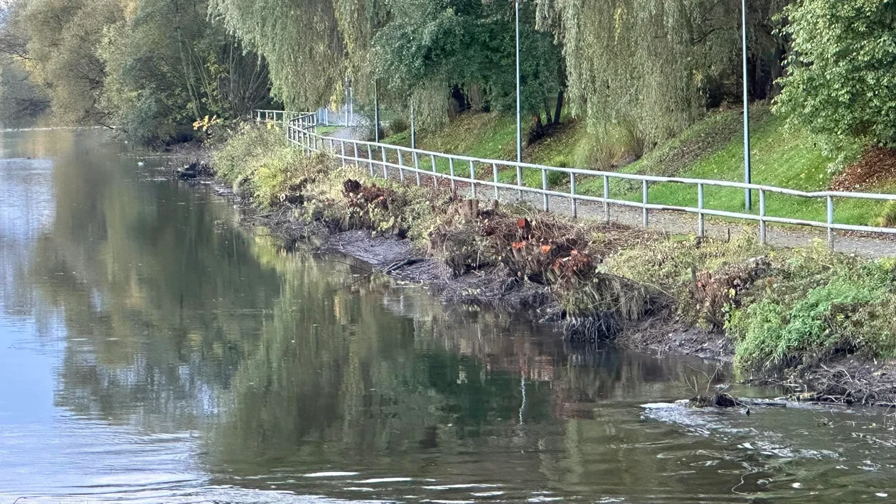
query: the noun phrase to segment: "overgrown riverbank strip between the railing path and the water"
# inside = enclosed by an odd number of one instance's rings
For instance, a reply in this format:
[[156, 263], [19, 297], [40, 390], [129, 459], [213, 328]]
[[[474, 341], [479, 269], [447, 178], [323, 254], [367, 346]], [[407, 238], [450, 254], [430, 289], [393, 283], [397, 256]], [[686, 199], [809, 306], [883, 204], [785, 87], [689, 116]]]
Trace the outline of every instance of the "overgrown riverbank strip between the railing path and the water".
[[[580, 345], [732, 360], [745, 376], [801, 384], [797, 392], [823, 400], [896, 397], [872, 365], [896, 350], [892, 261], [465, 200], [306, 158], [263, 128], [237, 134], [213, 163], [287, 242], [348, 253], [446, 302], [528, 311]], [[875, 380], [856, 380], [862, 370]]]

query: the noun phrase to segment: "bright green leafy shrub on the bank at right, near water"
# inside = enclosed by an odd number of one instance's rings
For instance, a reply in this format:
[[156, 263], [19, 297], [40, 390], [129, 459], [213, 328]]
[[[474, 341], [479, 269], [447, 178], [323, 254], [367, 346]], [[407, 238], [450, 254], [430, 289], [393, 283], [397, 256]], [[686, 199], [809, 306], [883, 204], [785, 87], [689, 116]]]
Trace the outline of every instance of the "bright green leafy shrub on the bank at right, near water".
[[812, 364], [841, 353], [896, 350], [892, 267], [816, 247], [784, 261], [774, 285], [733, 313], [728, 331], [745, 369]]

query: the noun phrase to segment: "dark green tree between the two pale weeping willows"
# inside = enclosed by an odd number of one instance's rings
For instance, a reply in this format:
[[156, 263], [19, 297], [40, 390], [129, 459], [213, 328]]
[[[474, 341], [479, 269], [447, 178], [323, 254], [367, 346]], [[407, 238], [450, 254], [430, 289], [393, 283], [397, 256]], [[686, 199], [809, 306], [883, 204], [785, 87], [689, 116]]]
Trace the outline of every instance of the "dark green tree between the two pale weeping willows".
[[[520, 14], [523, 111], [559, 120], [562, 55], [551, 34], [536, 29], [531, 3]], [[436, 125], [450, 108], [515, 108], [514, 38], [513, 1], [400, 0], [375, 35], [373, 61], [387, 90], [410, 96], [423, 122]]]

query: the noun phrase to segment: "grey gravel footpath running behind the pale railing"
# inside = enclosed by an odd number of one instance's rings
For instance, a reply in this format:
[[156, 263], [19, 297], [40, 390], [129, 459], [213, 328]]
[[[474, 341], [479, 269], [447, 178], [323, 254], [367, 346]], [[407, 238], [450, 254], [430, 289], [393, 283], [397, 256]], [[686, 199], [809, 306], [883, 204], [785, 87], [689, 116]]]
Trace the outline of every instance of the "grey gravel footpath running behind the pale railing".
[[[344, 128], [331, 133], [328, 136], [333, 138], [344, 138], [346, 140], [355, 139], [356, 130], [352, 128]], [[351, 154], [346, 152], [346, 154]], [[360, 154], [366, 156], [366, 153]], [[376, 173], [382, 175], [380, 169]], [[398, 170], [390, 167], [390, 177], [399, 177]], [[428, 175], [421, 176], [422, 184], [433, 184], [432, 177]], [[405, 174], [405, 182], [413, 184], [416, 182], [416, 176], [408, 172]], [[449, 184], [445, 179], [439, 181], [440, 185]], [[458, 183], [457, 187], [461, 192], [470, 194], [469, 183]], [[494, 198], [495, 189], [487, 186], [478, 186], [478, 197], [480, 199]], [[523, 192], [523, 201], [532, 205], [533, 208], [541, 209], [544, 196], [534, 192]], [[519, 201], [516, 191], [501, 190], [498, 192], [498, 200], [504, 202]], [[603, 219], [604, 207], [602, 203], [591, 201], [578, 201], [577, 215], [579, 218]], [[572, 215], [572, 205], [568, 198], [557, 196], [548, 197], [548, 209], [551, 211]], [[640, 227], [643, 225], [642, 209], [625, 207], [622, 205], [610, 205], [610, 219], [625, 224], [626, 226]], [[696, 235], [697, 233], [697, 216], [683, 212], [667, 211], [667, 210], [650, 210], [648, 214], [648, 225], [650, 229], [660, 230], [671, 234]], [[728, 238], [728, 236], [736, 236], [741, 233], [751, 233], [759, 235], [759, 226], [755, 223], [738, 224], [728, 222], [719, 218], [707, 217], [704, 226], [705, 235], [713, 238]], [[766, 240], [772, 246], [782, 248], [795, 248], [810, 245], [815, 241], [827, 242], [827, 230], [816, 229], [810, 227], [797, 226], [766, 226]], [[869, 258], [896, 257], [896, 236], [894, 235], [857, 235], [854, 233], [840, 231], [834, 238], [834, 250], [837, 252], [854, 253]]]

